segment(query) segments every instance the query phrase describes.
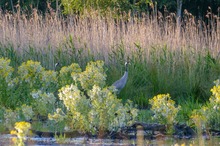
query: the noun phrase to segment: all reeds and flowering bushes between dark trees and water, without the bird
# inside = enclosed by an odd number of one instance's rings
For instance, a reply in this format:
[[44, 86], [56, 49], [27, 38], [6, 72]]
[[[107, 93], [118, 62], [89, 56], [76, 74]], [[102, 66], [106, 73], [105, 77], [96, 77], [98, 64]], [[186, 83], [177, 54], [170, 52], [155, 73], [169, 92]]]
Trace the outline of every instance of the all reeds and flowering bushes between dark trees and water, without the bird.
[[[177, 25], [173, 13], [33, 10], [0, 12], [0, 24], [1, 132], [19, 121], [100, 137], [134, 121], [220, 130], [220, 21], [211, 12], [206, 22], [185, 11]], [[116, 95], [110, 86], [127, 59], [128, 82]]]

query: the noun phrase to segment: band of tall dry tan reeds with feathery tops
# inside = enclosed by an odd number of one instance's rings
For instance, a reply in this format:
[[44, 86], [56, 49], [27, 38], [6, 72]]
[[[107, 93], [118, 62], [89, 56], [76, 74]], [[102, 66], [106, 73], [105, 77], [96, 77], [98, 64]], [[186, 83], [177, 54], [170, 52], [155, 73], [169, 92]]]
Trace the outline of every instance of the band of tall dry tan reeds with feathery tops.
[[30, 46], [44, 52], [47, 46], [51, 51], [63, 48], [69, 36], [72, 36], [76, 48], [90, 49], [101, 53], [108, 59], [108, 54], [118, 44], [123, 43], [129, 54], [136, 49], [135, 43], [144, 48], [146, 57], [150, 48], [164, 47], [175, 51], [206, 52], [219, 55], [220, 20], [212, 14], [207, 15], [208, 23], [196, 20], [185, 11], [182, 25], [176, 25], [176, 16], [166, 17], [143, 15], [141, 18], [129, 15], [113, 19], [111, 14], [102, 17], [98, 12], [87, 16], [55, 17], [45, 16], [33, 10], [26, 14], [0, 13], [0, 43], [13, 45], [22, 51]]

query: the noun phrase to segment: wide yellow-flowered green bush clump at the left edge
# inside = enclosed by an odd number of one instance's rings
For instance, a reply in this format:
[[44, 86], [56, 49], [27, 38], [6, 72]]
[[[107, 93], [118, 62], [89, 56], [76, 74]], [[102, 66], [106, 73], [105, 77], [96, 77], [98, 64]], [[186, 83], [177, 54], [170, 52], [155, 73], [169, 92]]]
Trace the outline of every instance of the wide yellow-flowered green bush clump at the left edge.
[[0, 104], [5, 108], [5, 127], [10, 130], [18, 120], [47, 117], [55, 110], [53, 93], [58, 90], [58, 79], [55, 71], [45, 70], [39, 62], [24, 62], [17, 72], [9, 64], [9, 59], [0, 58]]

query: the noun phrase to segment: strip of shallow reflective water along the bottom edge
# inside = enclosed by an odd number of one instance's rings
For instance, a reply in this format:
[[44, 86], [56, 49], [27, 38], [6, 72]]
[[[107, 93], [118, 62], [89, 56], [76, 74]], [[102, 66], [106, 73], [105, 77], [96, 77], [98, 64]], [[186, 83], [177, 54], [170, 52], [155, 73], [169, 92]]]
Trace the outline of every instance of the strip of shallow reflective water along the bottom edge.
[[[8, 146], [13, 145], [13, 136], [9, 134], [0, 135], [0, 145]], [[93, 138], [40, 138], [40, 137], [28, 137], [26, 145], [40, 146], [40, 145], [102, 145], [102, 146], [220, 146], [220, 137], [205, 137], [192, 138], [192, 139], [175, 139], [173, 137], [160, 137], [154, 140], [146, 140], [142, 135], [137, 135], [133, 140], [119, 140], [119, 139], [93, 139]]]

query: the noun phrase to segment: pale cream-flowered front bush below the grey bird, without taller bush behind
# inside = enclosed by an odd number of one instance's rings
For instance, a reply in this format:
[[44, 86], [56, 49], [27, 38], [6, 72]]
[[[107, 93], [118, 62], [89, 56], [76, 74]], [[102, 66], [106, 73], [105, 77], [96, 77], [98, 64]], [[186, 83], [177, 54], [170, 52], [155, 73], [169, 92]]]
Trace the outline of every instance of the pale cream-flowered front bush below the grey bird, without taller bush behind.
[[60, 90], [59, 97], [69, 112], [67, 116], [72, 124], [69, 126], [75, 130], [92, 133], [100, 129], [115, 131], [132, 124], [137, 116], [138, 110], [133, 108], [131, 101], [123, 105], [107, 88], [94, 85], [88, 96], [73, 84]]

